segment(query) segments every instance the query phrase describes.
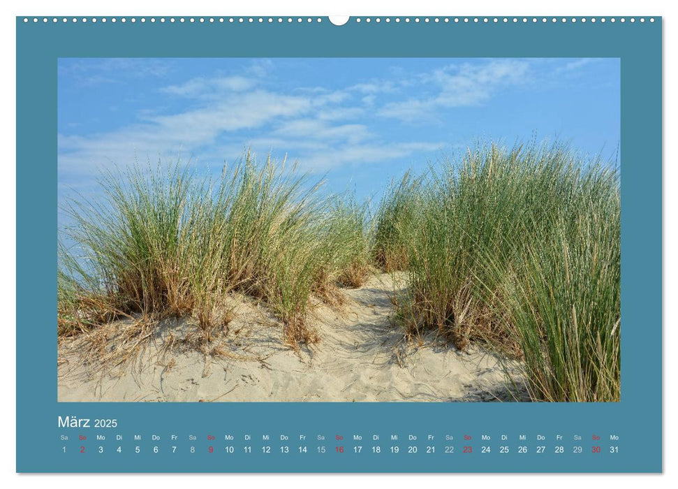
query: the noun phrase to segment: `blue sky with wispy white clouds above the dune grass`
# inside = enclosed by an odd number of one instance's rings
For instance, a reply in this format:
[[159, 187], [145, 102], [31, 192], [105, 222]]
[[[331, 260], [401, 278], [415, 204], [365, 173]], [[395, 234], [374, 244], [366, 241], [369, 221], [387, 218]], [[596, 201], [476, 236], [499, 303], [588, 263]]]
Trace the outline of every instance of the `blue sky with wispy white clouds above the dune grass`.
[[101, 168], [246, 147], [378, 198], [477, 140], [569, 141], [614, 156], [619, 59], [59, 59], [59, 198]]

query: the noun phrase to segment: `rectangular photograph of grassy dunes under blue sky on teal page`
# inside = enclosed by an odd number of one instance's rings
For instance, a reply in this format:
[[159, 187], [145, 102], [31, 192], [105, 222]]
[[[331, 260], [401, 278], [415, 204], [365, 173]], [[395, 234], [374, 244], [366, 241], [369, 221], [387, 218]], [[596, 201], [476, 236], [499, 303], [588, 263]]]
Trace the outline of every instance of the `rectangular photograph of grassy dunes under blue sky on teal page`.
[[59, 402], [619, 402], [618, 58], [60, 58]]

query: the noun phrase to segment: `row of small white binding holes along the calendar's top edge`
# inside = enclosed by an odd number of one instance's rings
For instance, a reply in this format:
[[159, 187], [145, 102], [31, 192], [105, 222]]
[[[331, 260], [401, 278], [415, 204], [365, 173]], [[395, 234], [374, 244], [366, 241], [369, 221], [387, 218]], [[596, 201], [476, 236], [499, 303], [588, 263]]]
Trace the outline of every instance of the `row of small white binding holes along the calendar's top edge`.
[[[66, 22], [73, 22], [73, 23], [82, 22], [83, 24], [87, 23], [87, 22], [91, 22], [93, 24], [95, 24], [96, 22], [102, 22], [102, 23], [109, 22], [109, 20], [106, 17], [101, 17], [101, 18], [97, 18], [97, 17], [91, 17], [91, 18], [87, 18], [87, 17], [81, 17], [81, 18], [78, 18], [78, 17], [72, 17], [72, 18], [52, 17], [51, 19], [48, 18], [48, 17], [42, 17], [41, 19], [38, 18], [38, 17], [33, 17], [33, 19], [32, 19], [32, 21], [34, 23], [38, 23], [38, 22], [40, 22], [40, 20], [42, 20], [43, 23], [50, 22], [50, 20], [51, 20], [55, 24], [57, 22], [63, 22], [63, 23], [66, 23]], [[197, 17], [197, 18], [196, 17], [188, 17], [188, 18], [186, 18], [186, 17], [169, 17], [169, 18], [159, 17], [157, 19], [156, 19], [156, 17], [151, 17], [149, 19], [147, 19], [146, 17], [140, 17], [139, 19], [137, 19], [136, 17], [131, 17], [129, 19], [127, 17], [120, 17], [119, 19], [117, 17], [111, 17], [110, 18], [110, 22], [112, 22], [113, 24], [115, 24], [116, 22], [121, 22], [123, 24], [125, 24], [126, 22], [131, 22], [131, 23], [134, 24], [135, 22], [137, 22], [137, 20], [139, 22], [141, 22], [142, 24], [147, 22], [147, 21], [149, 21], [151, 23], [160, 22], [161, 24], [163, 24], [165, 22], [170, 22], [170, 24], [175, 23], [175, 22], [179, 22], [179, 23], [189, 22], [191, 24], [196, 23], [196, 22], [198, 22], [200, 24], [205, 24], [205, 23], [207, 23], [207, 24], [214, 24], [214, 23], [223, 24], [224, 22], [228, 22], [230, 24], [236, 24], [236, 23], [237, 24], [244, 24], [244, 23], [253, 24], [255, 22], [259, 23], [259, 24], [263, 24], [265, 22], [267, 22], [269, 24], [272, 24], [274, 22], [277, 22], [279, 24], [282, 24], [284, 22], [286, 22], [288, 24], [291, 24], [293, 22], [310, 24], [312, 22], [318, 22], [318, 23], [323, 22], [323, 19], [320, 18], [320, 17], [315, 17], [315, 18], [314, 17], [227, 17], [227, 18], [225, 18], [225, 17]], [[365, 17], [365, 18], [356, 17], [355, 18], [355, 22], [358, 22], [358, 23], [363, 22], [363, 20], [364, 20], [364, 22], [367, 22], [367, 23], [370, 23], [373, 20], [377, 24], [382, 22], [381, 17], [375, 17], [374, 19], [371, 18], [371, 17]], [[395, 23], [415, 22], [415, 23], [419, 23], [419, 22], [423, 21], [425, 23], [427, 23], [427, 22], [435, 22], [435, 23], [438, 23], [438, 22], [445, 22], [445, 23], [448, 23], [448, 22], [454, 22], [454, 23], [463, 22], [463, 23], [466, 23], [466, 24], [468, 24], [469, 22], [473, 22], [473, 23], [476, 23], [476, 24], [480, 24], [480, 23], [499, 24], [500, 22], [503, 22], [505, 24], [508, 23], [508, 22], [513, 22], [514, 24], [517, 24], [518, 22], [522, 22], [523, 24], [527, 24], [529, 22], [532, 22], [533, 24], [536, 24], [538, 22], [542, 22], [542, 23], [561, 22], [561, 23], [564, 24], [566, 22], [571, 22], [571, 23], [575, 23], [575, 22], [582, 22], [582, 23], [585, 23], [585, 22], [592, 22], [592, 23], [602, 22], [602, 23], [605, 23], [605, 22], [609, 21], [609, 22], [612, 22], [614, 24], [614, 22], [617, 22], [617, 20], [619, 20], [619, 22], [621, 22], [622, 24], [624, 22], [627, 22], [627, 20], [628, 20], [628, 22], [631, 22], [632, 24], [634, 22], [636, 22], [635, 17], [631, 17], [629, 19], [626, 19], [626, 17], [621, 17], [619, 19], [617, 19], [615, 17], [610, 17], [609, 19], [607, 17], [600, 17], [600, 18], [591, 17], [589, 19], [587, 19], [586, 17], [581, 17], [579, 19], [577, 19], [577, 17], [561, 17], [561, 18], [557, 18], [557, 17], [423, 17], [423, 18], [420, 18], [420, 17], [413, 17], [413, 18], [411, 18], [411, 17], [403, 17], [403, 18], [401, 18], [401, 17], [394, 17], [394, 18], [385, 17], [383, 19], [383, 22], [386, 22], [386, 23], [390, 23], [390, 22], [395, 22]], [[638, 21], [639, 22], [645, 22], [645, 18], [640, 17], [638, 19]], [[27, 22], [31, 22], [31, 19], [29, 19], [29, 17], [24, 17], [24, 23], [27, 23]], [[650, 17], [649, 22], [654, 22], [654, 18]]]

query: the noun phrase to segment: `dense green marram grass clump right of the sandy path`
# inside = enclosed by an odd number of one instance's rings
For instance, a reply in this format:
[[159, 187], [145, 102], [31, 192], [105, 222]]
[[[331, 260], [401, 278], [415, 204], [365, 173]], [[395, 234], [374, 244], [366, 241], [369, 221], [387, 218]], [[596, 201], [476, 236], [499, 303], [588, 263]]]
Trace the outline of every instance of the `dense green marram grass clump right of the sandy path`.
[[433, 168], [409, 198], [415, 224], [395, 233], [407, 250], [407, 328], [513, 353], [534, 399], [619, 400], [620, 200], [609, 163], [562, 145], [483, 145]]

